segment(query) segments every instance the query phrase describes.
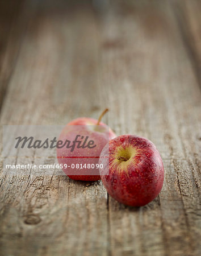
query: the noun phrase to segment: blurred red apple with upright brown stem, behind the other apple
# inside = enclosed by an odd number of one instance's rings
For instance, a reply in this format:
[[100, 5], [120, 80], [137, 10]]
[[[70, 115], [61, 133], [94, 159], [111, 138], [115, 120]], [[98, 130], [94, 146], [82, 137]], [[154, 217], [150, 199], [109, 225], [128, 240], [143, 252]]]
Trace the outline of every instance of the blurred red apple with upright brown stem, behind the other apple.
[[102, 116], [107, 111], [108, 109], [104, 110], [98, 120], [87, 117], [74, 119], [61, 131], [58, 140], [62, 142], [67, 139], [72, 144], [79, 135], [77, 141], [80, 143], [76, 142], [73, 151], [71, 151], [72, 148], [66, 146], [57, 147], [58, 163], [62, 165], [62, 170], [70, 179], [87, 181], [101, 179], [98, 168], [99, 156], [107, 142], [116, 137], [114, 132], [101, 122]]

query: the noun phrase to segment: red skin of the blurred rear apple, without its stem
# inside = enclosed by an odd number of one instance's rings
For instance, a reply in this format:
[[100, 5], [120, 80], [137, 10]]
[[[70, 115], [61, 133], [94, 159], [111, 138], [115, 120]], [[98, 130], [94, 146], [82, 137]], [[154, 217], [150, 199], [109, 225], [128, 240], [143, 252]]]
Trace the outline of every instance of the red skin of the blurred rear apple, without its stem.
[[[74, 119], [69, 122], [64, 129], [61, 131], [60, 137], [58, 140], [65, 141], [68, 139], [69, 141], [74, 141], [77, 134], [81, 134], [83, 136], [89, 136], [89, 140], [93, 140], [97, 146], [95, 148], [74, 148], [73, 152], [70, 152], [69, 148], [57, 148], [57, 159], [59, 164], [98, 164], [99, 156], [103, 147], [107, 144], [107, 142], [115, 138], [115, 133], [103, 122], [99, 123], [100, 129], [105, 129], [104, 132], [98, 132], [90, 130], [90, 127], [97, 127], [97, 119], [81, 117]], [[93, 126], [91, 126], [93, 125]], [[69, 158], [73, 156], [73, 158]], [[86, 156], [86, 158], [79, 158], [79, 156]], [[89, 158], [87, 158], [87, 156]], [[77, 157], [77, 158], [76, 158]], [[70, 168], [62, 168], [65, 174], [73, 180], [85, 180], [85, 181], [96, 181], [100, 180], [101, 177], [99, 175], [98, 169], [76, 169], [74, 170]], [[97, 175], [95, 175], [97, 174]]]

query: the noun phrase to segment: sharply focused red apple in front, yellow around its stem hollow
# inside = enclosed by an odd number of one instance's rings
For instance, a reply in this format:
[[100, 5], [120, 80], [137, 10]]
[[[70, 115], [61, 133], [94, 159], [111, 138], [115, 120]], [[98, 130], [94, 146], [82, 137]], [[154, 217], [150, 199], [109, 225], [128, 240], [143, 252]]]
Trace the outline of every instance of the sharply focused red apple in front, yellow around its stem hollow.
[[[118, 160], [124, 156], [125, 160]], [[101, 152], [101, 180], [110, 196], [120, 203], [140, 207], [152, 201], [164, 182], [164, 164], [154, 144], [136, 135], [112, 139]]]

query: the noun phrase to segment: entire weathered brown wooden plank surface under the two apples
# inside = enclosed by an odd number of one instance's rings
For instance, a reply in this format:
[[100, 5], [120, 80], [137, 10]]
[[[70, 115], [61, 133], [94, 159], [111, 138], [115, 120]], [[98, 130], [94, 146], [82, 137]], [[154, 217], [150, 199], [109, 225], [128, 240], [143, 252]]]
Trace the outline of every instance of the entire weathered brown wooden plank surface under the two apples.
[[201, 2], [97, 2], [1, 2], [1, 127], [107, 107], [117, 135], [156, 144], [164, 186], [132, 208], [101, 181], [2, 172], [0, 255], [200, 255]]

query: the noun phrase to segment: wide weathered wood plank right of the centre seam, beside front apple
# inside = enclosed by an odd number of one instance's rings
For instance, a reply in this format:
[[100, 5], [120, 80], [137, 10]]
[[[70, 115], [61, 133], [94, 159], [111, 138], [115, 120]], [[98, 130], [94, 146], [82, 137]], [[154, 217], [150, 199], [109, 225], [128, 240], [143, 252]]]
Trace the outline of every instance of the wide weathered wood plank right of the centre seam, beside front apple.
[[[120, 42], [104, 54], [103, 76], [110, 86], [109, 107], [118, 116], [115, 123], [110, 119], [111, 127], [119, 122], [122, 133], [138, 133], [156, 143], [165, 182], [159, 199], [140, 210], [141, 218], [138, 211], [129, 218], [110, 200], [112, 249], [114, 255], [198, 255], [200, 88], [173, 6], [144, 3], [121, 8], [110, 26], [106, 23], [106, 35], [112, 36], [107, 40]], [[135, 228], [125, 231], [125, 223]]]

